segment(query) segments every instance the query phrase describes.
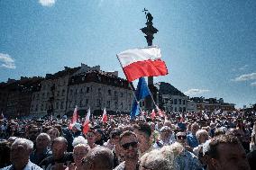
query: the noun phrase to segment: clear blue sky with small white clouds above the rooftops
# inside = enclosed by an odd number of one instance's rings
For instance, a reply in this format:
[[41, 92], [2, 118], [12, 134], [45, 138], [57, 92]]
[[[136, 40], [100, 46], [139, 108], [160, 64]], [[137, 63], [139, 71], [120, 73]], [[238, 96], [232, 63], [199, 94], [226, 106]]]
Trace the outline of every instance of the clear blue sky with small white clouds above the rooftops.
[[0, 82], [80, 63], [123, 77], [115, 55], [147, 45], [144, 7], [169, 68], [155, 82], [236, 107], [256, 103], [254, 0], [0, 0]]

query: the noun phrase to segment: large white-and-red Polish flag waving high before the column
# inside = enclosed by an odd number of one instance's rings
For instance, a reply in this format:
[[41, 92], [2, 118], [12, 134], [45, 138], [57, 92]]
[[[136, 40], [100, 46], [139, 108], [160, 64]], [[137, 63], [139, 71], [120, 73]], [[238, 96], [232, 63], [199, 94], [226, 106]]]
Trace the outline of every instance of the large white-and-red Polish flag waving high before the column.
[[167, 67], [160, 57], [160, 49], [152, 46], [142, 49], [128, 49], [117, 54], [128, 82], [142, 76], [167, 75]]

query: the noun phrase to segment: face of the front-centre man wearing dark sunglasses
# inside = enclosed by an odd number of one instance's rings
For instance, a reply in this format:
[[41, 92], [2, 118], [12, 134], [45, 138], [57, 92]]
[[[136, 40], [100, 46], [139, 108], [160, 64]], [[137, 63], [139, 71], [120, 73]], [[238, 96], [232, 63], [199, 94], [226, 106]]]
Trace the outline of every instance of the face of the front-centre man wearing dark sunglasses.
[[138, 158], [138, 139], [134, 135], [124, 136], [120, 140], [124, 160]]

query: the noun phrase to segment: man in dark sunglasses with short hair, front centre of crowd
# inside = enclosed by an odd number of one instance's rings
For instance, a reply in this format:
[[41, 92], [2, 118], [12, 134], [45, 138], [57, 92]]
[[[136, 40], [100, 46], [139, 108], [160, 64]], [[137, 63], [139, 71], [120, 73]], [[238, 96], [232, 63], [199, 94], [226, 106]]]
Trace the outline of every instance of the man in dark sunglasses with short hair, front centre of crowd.
[[119, 139], [121, 152], [123, 152], [123, 162], [114, 170], [137, 170], [139, 168], [138, 139], [131, 130], [124, 131]]

